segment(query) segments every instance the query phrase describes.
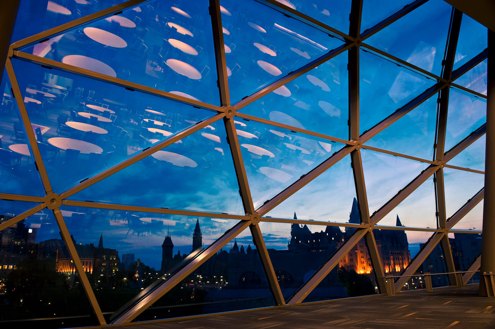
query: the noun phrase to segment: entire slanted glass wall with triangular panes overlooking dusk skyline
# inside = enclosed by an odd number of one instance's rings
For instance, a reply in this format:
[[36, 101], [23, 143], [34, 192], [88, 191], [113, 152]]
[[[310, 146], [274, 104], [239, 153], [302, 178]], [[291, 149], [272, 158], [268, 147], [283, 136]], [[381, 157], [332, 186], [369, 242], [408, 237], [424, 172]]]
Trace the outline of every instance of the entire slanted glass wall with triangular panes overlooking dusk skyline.
[[0, 324], [477, 270], [487, 29], [441, 0], [333, 2], [22, 0], [0, 85]]

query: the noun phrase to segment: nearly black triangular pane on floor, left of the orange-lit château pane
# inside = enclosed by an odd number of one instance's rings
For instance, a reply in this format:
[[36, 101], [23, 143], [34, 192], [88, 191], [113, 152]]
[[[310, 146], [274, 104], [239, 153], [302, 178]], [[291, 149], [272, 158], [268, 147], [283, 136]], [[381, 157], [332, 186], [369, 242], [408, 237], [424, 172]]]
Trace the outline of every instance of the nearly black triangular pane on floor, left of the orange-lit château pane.
[[246, 229], [134, 322], [274, 305], [263, 265]]

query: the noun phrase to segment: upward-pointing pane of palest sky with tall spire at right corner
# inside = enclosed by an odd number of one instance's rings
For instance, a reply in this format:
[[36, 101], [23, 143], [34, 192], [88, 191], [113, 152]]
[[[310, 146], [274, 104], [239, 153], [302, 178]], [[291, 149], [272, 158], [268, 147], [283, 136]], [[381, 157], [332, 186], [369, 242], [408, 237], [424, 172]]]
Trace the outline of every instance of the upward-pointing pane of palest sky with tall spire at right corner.
[[[270, 210], [266, 217], [360, 224], [350, 155]], [[357, 216], [357, 217], [356, 217]]]

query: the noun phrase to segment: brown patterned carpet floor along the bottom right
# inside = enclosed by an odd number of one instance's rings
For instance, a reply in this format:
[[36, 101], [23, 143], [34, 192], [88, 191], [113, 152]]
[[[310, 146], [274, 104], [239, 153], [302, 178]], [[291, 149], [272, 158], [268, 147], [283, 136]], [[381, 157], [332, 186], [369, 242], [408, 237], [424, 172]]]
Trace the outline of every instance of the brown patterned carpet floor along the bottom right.
[[494, 305], [470, 284], [121, 328], [495, 328]]

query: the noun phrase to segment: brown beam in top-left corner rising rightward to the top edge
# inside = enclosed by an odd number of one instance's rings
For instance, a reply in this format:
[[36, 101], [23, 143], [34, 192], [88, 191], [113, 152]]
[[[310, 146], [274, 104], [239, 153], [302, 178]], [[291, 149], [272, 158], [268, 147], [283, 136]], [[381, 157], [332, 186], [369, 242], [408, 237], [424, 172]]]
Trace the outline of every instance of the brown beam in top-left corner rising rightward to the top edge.
[[124, 3], [117, 4], [113, 7], [106, 8], [100, 11], [97, 11], [93, 14], [78, 18], [76, 20], [70, 21], [68, 23], [59, 25], [57, 27], [54, 27], [52, 29], [43, 31], [41, 33], [35, 34], [34, 36], [28, 37], [26, 39], [22, 39], [20, 41], [17, 41], [11, 45], [13, 49], [18, 49], [20, 47], [27, 47], [34, 45], [38, 42], [43, 42], [51, 37], [54, 37], [58, 34], [61, 34], [63, 32], [66, 32], [74, 27], [77, 27], [79, 25], [83, 24], [88, 24], [94, 21], [97, 21], [99, 19], [118, 14], [120, 11], [127, 9], [129, 7], [133, 7], [141, 2], [147, 2], [148, 0], [129, 0]]

